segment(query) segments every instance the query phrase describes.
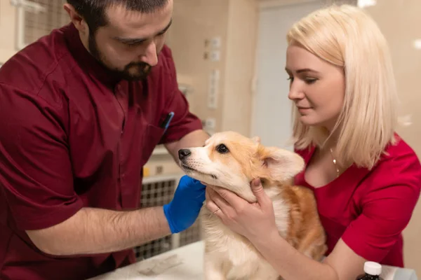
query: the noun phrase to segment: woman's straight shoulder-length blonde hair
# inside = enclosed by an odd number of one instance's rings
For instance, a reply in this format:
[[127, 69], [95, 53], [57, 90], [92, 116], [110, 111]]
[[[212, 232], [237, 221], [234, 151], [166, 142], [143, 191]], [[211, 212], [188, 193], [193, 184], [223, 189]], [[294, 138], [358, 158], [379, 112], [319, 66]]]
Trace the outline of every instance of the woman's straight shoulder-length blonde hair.
[[[394, 144], [398, 102], [387, 41], [376, 23], [355, 6], [329, 6], [291, 27], [288, 45], [298, 44], [345, 71], [345, 101], [335, 126], [342, 165], [372, 168]], [[293, 140], [299, 149], [323, 146], [329, 134], [299, 120], [293, 106]], [[332, 132], [330, 132], [331, 134]]]

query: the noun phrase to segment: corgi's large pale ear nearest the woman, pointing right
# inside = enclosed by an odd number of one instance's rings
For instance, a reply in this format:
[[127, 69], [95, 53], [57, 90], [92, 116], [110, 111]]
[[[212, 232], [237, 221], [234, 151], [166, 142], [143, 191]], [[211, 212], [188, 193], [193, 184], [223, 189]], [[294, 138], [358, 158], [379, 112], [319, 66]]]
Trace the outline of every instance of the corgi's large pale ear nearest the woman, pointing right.
[[263, 162], [267, 179], [283, 183], [292, 179], [305, 167], [303, 158], [297, 153], [276, 147], [260, 147], [260, 160]]

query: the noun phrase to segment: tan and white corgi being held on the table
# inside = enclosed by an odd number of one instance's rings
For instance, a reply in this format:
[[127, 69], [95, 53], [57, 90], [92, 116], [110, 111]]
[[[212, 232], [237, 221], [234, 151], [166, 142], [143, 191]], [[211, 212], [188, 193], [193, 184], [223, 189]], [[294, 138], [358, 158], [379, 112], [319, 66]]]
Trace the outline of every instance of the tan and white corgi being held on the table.
[[[213, 134], [205, 146], [181, 149], [178, 155], [187, 175], [230, 190], [250, 203], [257, 202], [250, 182], [260, 178], [272, 200], [279, 235], [309, 258], [323, 258], [326, 235], [312, 190], [293, 186], [293, 177], [305, 167], [300, 155], [262, 146], [258, 137], [250, 139], [236, 132]], [[200, 216], [205, 279], [281, 279], [248, 239], [229, 230], [206, 207]]]

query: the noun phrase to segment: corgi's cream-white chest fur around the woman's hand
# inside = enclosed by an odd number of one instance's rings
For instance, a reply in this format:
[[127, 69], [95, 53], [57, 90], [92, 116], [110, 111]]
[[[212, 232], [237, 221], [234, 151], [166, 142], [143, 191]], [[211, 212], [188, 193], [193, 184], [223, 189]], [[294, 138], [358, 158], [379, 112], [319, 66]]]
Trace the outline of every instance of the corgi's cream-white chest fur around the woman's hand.
[[[281, 236], [288, 230], [288, 206], [279, 196], [279, 189], [266, 190], [274, 205], [276, 226]], [[276, 197], [276, 199], [274, 199]], [[274, 269], [245, 238], [229, 230], [206, 207], [201, 211], [203, 237], [206, 244], [206, 279], [277, 279]], [[262, 238], [265, 238], [264, 236]], [[227, 276], [227, 277], [226, 277]], [[264, 278], [262, 278], [264, 277]]]

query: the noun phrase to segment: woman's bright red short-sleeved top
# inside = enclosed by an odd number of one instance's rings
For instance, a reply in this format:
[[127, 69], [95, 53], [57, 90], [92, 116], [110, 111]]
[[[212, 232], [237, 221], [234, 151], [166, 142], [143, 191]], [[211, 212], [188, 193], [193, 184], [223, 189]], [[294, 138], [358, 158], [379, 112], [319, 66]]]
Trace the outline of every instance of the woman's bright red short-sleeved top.
[[[314, 148], [297, 152], [308, 163]], [[420, 197], [421, 165], [402, 139], [387, 153], [370, 171], [353, 165], [321, 188], [310, 186], [304, 172], [296, 176], [296, 184], [314, 190], [328, 237], [326, 255], [342, 237], [366, 260], [403, 267], [402, 230]]]

